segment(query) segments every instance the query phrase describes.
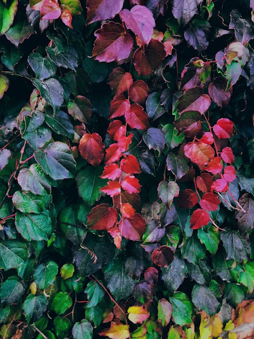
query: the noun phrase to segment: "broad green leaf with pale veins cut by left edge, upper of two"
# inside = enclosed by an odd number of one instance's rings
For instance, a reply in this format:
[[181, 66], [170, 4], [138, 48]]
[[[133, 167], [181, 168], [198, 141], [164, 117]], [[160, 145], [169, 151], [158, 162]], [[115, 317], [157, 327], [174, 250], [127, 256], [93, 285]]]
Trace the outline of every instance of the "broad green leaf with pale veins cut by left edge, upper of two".
[[0, 243], [0, 268], [18, 268], [28, 257], [25, 242], [7, 240]]

